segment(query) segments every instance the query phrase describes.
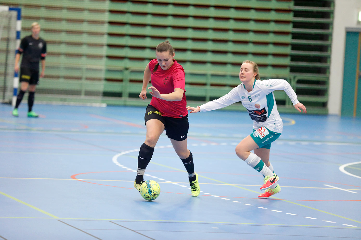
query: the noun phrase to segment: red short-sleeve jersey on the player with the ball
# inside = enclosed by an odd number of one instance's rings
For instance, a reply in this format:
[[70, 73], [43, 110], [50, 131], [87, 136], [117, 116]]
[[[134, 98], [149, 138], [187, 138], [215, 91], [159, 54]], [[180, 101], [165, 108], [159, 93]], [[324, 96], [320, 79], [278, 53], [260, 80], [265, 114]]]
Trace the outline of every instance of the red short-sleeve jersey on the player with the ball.
[[184, 89], [186, 80], [184, 80], [184, 69], [182, 65], [177, 63], [174, 59], [173, 62], [173, 65], [169, 69], [163, 70], [160, 66], [158, 66], [157, 70], [153, 73], [153, 69], [158, 62], [157, 59], [151, 60], [149, 62], [149, 69], [152, 73], [151, 83], [161, 94], [169, 94], [174, 92], [174, 89], [176, 88], [183, 89], [184, 92], [182, 100], [166, 101], [152, 97], [151, 105], [158, 109], [164, 117], [181, 118], [187, 116], [188, 114], [186, 109], [186, 90]]

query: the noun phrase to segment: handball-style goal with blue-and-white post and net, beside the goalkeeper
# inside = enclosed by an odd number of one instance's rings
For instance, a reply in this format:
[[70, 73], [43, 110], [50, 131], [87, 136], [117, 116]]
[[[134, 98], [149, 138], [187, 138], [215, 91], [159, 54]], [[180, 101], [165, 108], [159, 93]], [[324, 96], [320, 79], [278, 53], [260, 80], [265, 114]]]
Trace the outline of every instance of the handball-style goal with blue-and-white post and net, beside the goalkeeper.
[[13, 106], [19, 86], [14, 64], [20, 46], [20, 31], [21, 8], [0, 5], [0, 101], [11, 102]]

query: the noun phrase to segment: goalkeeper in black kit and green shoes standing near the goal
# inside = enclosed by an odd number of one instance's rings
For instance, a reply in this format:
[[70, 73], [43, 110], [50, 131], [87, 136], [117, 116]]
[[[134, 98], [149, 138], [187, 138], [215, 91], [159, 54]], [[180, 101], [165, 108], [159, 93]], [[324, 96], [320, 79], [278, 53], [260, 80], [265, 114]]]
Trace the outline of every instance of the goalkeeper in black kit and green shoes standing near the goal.
[[18, 117], [18, 107], [23, 99], [26, 90], [29, 87], [28, 117], [39, 117], [39, 114], [32, 111], [35, 99], [35, 87], [39, 83], [39, 62], [42, 63], [42, 72], [40, 77], [44, 77], [45, 71], [45, 56], [46, 56], [46, 42], [39, 37], [40, 25], [37, 22], [31, 24], [31, 35], [24, 37], [21, 40], [18, 48], [18, 53], [15, 56], [15, 72], [19, 71], [19, 59], [23, 54], [19, 81], [21, 82], [20, 91], [16, 99], [16, 105], [13, 110], [13, 116]]

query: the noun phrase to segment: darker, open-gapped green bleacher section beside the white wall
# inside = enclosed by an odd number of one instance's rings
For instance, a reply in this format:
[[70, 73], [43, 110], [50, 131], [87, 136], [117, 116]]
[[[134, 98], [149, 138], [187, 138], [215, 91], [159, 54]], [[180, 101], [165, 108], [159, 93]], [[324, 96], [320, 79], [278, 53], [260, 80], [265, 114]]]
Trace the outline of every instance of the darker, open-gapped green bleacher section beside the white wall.
[[327, 113], [334, 0], [294, 0], [290, 74], [300, 101]]

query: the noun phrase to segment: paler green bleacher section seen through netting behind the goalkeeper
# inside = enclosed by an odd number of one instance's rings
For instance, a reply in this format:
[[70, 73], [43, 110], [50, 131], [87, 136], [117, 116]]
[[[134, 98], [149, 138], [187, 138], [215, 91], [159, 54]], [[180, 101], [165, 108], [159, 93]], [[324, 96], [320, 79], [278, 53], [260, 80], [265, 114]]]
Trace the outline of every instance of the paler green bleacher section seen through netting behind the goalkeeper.
[[105, 75], [108, 1], [5, 0], [22, 10], [21, 38], [31, 23], [41, 25], [47, 41], [45, 77], [36, 100], [101, 102]]

